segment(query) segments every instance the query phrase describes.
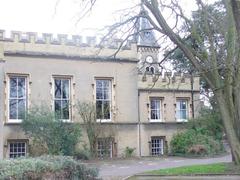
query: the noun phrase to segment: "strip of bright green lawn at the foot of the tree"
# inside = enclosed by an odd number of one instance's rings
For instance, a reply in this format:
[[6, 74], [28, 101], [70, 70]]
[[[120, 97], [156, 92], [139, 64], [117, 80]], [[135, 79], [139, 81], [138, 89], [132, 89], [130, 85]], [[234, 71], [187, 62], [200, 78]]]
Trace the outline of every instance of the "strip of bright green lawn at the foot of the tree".
[[194, 175], [194, 174], [234, 174], [240, 173], [240, 167], [232, 163], [216, 163], [208, 165], [183, 166], [169, 169], [148, 171], [150, 175]]

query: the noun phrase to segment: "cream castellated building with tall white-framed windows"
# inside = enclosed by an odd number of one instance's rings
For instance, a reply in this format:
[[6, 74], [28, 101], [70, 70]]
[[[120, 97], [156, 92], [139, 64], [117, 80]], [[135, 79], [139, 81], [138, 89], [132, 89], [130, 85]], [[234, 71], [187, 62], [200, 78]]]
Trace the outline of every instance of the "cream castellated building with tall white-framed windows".
[[[100, 110], [111, 138], [107, 144], [99, 138], [99, 155], [107, 149], [109, 157], [120, 157], [126, 147], [135, 148], [136, 156], [166, 153], [172, 135], [198, 111], [199, 77], [191, 85], [189, 75], [161, 74], [159, 47], [147, 41], [129, 41], [112, 58], [119, 43], [101, 48], [93, 37], [40, 38], [16, 31], [6, 37], [0, 31], [0, 157], [28, 154], [31, 143], [19, 127], [21, 111], [44, 102], [61, 119], [83, 123], [77, 101], [96, 103]], [[83, 139], [87, 142], [86, 134]]]

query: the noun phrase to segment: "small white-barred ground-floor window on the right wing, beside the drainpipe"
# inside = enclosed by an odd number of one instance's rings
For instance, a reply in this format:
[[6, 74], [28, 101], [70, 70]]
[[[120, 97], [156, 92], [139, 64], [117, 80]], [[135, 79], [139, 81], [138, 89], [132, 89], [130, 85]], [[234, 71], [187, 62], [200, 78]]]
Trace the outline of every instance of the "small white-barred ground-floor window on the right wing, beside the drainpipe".
[[151, 155], [159, 156], [163, 155], [164, 138], [163, 137], [151, 137]]

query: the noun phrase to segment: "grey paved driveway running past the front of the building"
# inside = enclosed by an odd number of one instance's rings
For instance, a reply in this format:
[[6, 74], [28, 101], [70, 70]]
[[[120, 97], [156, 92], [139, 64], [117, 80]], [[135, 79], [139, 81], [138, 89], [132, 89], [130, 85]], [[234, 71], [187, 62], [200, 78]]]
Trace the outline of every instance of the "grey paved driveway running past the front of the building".
[[180, 157], [139, 158], [132, 160], [96, 161], [86, 164], [92, 167], [98, 167], [100, 177], [104, 180], [118, 180], [149, 170], [218, 162], [231, 162], [231, 155], [201, 159]]

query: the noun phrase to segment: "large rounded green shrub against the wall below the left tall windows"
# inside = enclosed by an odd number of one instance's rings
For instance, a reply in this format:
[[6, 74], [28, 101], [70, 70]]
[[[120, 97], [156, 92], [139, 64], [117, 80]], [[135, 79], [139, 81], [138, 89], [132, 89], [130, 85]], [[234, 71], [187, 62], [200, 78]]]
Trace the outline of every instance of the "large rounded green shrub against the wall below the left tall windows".
[[44, 106], [29, 109], [21, 127], [25, 134], [46, 146], [48, 153], [54, 155], [73, 155], [81, 137], [79, 124], [57, 119], [54, 112]]

